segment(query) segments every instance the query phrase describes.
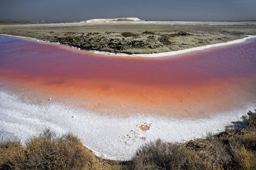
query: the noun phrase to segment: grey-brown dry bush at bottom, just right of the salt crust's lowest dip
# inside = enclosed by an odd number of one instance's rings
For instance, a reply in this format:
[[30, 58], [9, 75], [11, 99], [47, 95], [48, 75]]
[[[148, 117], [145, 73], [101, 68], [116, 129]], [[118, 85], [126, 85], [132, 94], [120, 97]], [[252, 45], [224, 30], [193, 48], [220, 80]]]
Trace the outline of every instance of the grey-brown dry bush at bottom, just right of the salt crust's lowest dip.
[[195, 152], [160, 139], [141, 146], [132, 158], [134, 169], [206, 169]]

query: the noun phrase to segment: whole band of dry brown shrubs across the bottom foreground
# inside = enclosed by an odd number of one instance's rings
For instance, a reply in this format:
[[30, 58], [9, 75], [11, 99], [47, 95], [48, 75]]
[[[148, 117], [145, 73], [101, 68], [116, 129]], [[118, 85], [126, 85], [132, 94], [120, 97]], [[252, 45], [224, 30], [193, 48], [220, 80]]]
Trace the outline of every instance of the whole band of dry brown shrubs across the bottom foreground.
[[24, 146], [2, 142], [0, 169], [256, 169], [255, 130], [256, 113], [250, 111], [224, 132], [182, 144], [158, 139], [121, 162], [96, 157], [72, 134], [45, 131]]

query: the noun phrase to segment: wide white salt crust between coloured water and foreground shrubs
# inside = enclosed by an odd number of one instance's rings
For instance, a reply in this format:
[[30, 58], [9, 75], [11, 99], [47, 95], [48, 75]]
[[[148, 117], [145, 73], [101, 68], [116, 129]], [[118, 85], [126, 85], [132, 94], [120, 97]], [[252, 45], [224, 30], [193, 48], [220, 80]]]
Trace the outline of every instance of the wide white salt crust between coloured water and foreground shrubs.
[[[128, 160], [141, 145], [162, 139], [172, 143], [204, 138], [207, 132], [224, 131], [227, 125], [255, 108], [248, 103], [239, 110], [212, 114], [209, 118], [166, 118], [133, 115], [127, 118], [101, 116], [61, 103], [24, 101], [26, 94], [13, 94], [0, 88], [0, 139], [16, 136], [24, 143], [49, 128], [59, 134], [72, 132], [83, 144], [104, 159]], [[22, 99], [22, 100], [21, 100]], [[152, 124], [142, 132], [137, 125]], [[127, 136], [129, 134], [129, 136]]]

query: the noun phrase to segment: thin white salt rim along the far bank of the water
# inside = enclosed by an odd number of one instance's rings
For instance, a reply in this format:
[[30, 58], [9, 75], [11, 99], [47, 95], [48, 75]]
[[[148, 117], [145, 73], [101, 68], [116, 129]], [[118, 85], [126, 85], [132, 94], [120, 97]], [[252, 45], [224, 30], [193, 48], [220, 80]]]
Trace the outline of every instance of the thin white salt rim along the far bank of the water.
[[[40, 39], [36, 39], [36, 38], [28, 38], [25, 36], [13, 36], [10, 34], [0, 34], [0, 36], [12, 36], [12, 37], [17, 37], [17, 38], [26, 38], [26, 39], [32, 39], [35, 41], [42, 41], [45, 43], [54, 43], [51, 41], [43, 41]], [[214, 48], [214, 47], [218, 47], [218, 46], [225, 46], [225, 45], [233, 45], [233, 44], [237, 44], [237, 43], [243, 43], [244, 41], [246, 41], [247, 39], [251, 39], [251, 38], [256, 38], [256, 35], [245, 35], [247, 37], [241, 38], [241, 39], [235, 39], [232, 41], [227, 41], [225, 43], [216, 43], [216, 44], [212, 44], [212, 45], [205, 45], [205, 46], [197, 46], [194, 48], [188, 48], [185, 50], [177, 50], [177, 51], [172, 51], [172, 52], [163, 52], [163, 53], [138, 53], [138, 54], [128, 54], [128, 53], [111, 53], [111, 52], [101, 52], [101, 51], [97, 51], [97, 50], [86, 50], [88, 52], [92, 52], [95, 54], [101, 54], [101, 55], [111, 55], [111, 56], [118, 56], [118, 57], [167, 57], [167, 56], [172, 56], [172, 55], [178, 55], [178, 54], [182, 54], [182, 53], [188, 53], [188, 52], [193, 52], [193, 51], [198, 51], [198, 50], [205, 50], [205, 49], [209, 49], [209, 48]], [[58, 44], [58, 45], [63, 45], [61, 43], [54, 43], [54, 44]], [[77, 48], [77, 50], [81, 50], [80, 48], [76, 47], [76, 46], [71, 46], [71, 45], [65, 45], [65, 46], [69, 46], [71, 48]]]

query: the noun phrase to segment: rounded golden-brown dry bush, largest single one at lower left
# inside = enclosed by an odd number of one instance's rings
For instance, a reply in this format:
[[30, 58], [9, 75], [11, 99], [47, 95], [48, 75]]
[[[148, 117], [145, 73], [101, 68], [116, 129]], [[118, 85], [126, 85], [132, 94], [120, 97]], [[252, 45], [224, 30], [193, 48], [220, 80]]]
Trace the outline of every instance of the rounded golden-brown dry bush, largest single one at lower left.
[[77, 169], [93, 159], [76, 136], [57, 137], [50, 131], [29, 140], [26, 156], [24, 166], [28, 169]]

